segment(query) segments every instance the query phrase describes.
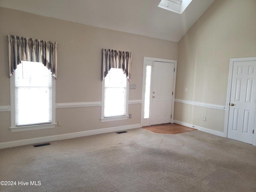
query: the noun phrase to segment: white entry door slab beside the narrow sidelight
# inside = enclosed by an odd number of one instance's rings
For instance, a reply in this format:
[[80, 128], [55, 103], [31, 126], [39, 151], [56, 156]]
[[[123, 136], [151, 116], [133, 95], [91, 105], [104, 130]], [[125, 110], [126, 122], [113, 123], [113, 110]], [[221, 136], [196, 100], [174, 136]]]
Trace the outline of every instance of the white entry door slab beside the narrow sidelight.
[[154, 62], [150, 124], [171, 122], [174, 63]]

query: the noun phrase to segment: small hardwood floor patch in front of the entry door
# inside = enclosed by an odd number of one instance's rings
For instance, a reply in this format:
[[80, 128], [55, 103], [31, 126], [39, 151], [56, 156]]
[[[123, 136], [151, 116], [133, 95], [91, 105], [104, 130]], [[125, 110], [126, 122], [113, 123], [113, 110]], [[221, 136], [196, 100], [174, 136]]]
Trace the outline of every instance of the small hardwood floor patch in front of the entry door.
[[154, 133], [164, 133], [164, 134], [178, 134], [178, 133], [185, 133], [185, 132], [197, 130], [194, 128], [185, 127], [175, 123], [145, 126], [142, 128], [152, 131]]

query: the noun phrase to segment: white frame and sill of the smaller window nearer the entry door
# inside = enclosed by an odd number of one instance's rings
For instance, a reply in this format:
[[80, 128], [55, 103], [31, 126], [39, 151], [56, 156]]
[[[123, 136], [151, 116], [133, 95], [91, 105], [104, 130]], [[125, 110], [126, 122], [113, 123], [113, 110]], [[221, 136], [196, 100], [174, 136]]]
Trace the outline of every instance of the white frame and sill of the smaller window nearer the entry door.
[[119, 120], [127, 120], [129, 118], [128, 115], [128, 102], [129, 102], [129, 81], [126, 81], [126, 113], [122, 116], [115, 117], [104, 117], [104, 97], [105, 97], [105, 79], [102, 80], [102, 105], [101, 105], [101, 122], [110, 122], [110, 121], [119, 121]]

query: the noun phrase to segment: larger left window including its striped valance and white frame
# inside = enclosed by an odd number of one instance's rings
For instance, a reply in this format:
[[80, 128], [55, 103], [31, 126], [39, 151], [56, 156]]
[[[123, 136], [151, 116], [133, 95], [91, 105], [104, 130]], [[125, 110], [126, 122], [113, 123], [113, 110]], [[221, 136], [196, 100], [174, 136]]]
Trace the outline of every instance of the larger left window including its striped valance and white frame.
[[8, 35], [11, 131], [54, 128], [57, 42]]

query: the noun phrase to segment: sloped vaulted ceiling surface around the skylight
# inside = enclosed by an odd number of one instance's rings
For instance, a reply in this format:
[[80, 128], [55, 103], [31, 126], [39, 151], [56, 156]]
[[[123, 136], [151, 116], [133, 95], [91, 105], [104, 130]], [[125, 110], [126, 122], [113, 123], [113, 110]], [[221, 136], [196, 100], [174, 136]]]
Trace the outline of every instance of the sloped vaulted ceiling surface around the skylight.
[[0, 0], [0, 6], [178, 42], [214, 0], [192, 0], [182, 14], [160, 0]]

